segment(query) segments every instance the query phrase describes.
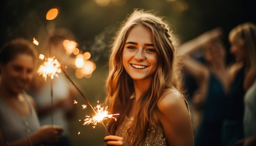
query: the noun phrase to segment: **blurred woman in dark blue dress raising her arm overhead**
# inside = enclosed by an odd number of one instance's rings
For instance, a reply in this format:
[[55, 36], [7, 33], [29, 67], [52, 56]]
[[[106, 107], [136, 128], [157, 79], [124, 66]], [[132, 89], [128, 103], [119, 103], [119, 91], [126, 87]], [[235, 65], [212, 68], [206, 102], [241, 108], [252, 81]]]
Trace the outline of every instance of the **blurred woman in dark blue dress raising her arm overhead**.
[[[195, 146], [220, 146], [227, 93], [226, 50], [221, 41], [220, 28], [207, 31], [181, 44], [178, 53], [184, 62], [186, 75], [195, 79], [198, 88], [191, 95]], [[195, 58], [193, 53], [203, 55]], [[188, 86], [190, 88], [190, 86]], [[197, 112], [200, 106], [202, 113]], [[199, 119], [197, 118], [199, 115]], [[197, 117], [194, 117], [197, 116]]]

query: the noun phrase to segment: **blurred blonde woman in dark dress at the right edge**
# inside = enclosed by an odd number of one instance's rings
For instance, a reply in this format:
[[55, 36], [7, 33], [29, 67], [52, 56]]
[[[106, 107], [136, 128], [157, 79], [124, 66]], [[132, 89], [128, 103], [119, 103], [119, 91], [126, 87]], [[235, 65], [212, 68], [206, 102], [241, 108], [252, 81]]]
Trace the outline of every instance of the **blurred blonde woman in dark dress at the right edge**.
[[[256, 26], [245, 22], [229, 33], [236, 62], [229, 75], [227, 119], [223, 146], [256, 145]], [[245, 94], [246, 93], [246, 94]], [[238, 140], [240, 139], [240, 140]]]

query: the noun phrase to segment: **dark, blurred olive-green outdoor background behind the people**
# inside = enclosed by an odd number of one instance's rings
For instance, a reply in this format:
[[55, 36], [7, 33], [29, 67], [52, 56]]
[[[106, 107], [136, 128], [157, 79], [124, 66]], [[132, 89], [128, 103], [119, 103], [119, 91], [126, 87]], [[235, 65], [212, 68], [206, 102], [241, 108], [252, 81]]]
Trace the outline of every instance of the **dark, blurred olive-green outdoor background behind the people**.
[[[109, 1], [109, 3], [107, 3]], [[106, 3], [104, 3], [106, 2]], [[0, 46], [17, 37], [43, 42], [44, 27], [65, 28], [75, 36], [81, 51], [91, 53], [97, 68], [90, 78], [78, 79], [72, 69], [68, 74], [88, 97], [91, 104], [105, 99], [105, 82], [108, 75], [109, 44], [119, 22], [135, 8], [154, 10], [166, 17], [180, 43], [216, 27], [223, 29], [223, 41], [229, 51], [229, 31], [243, 22], [256, 23], [256, 8], [253, 0], [1, 0]], [[58, 8], [54, 20], [46, 20], [49, 9]], [[40, 45], [40, 44], [39, 44]], [[38, 48], [40, 48], [38, 46]], [[230, 54], [227, 63], [232, 62]], [[81, 95], [76, 100], [86, 104]], [[83, 126], [79, 119], [92, 114], [90, 108], [77, 106], [75, 117], [70, 120], [70, 134], [74, 146], [102, 146], [106, 131], [102, 124], [96, 128]], [[78, 132], [81, 132], [78, 135]]]

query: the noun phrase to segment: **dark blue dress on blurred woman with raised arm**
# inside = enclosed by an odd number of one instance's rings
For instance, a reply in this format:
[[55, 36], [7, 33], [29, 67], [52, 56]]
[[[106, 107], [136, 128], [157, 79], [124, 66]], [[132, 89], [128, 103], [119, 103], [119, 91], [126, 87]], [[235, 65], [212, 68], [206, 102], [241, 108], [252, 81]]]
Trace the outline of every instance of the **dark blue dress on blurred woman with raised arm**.
[[195, 134], [195, 146], [220, 146], [224, 120], [225, 91], [219, 79], [210, 74], [208, 93], [198, 131]]

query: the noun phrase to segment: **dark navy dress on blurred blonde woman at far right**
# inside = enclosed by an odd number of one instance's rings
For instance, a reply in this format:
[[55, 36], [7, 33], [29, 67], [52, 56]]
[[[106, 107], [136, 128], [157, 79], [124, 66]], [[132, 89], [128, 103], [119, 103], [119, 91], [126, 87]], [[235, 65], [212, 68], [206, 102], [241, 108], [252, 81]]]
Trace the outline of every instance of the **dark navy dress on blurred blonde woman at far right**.
[[244, 95], [243, 81], [245, 67], [238, 71], [227, 96], [227, 113], [222, 129], [222, 146], [232, 146], [243, 139]]

